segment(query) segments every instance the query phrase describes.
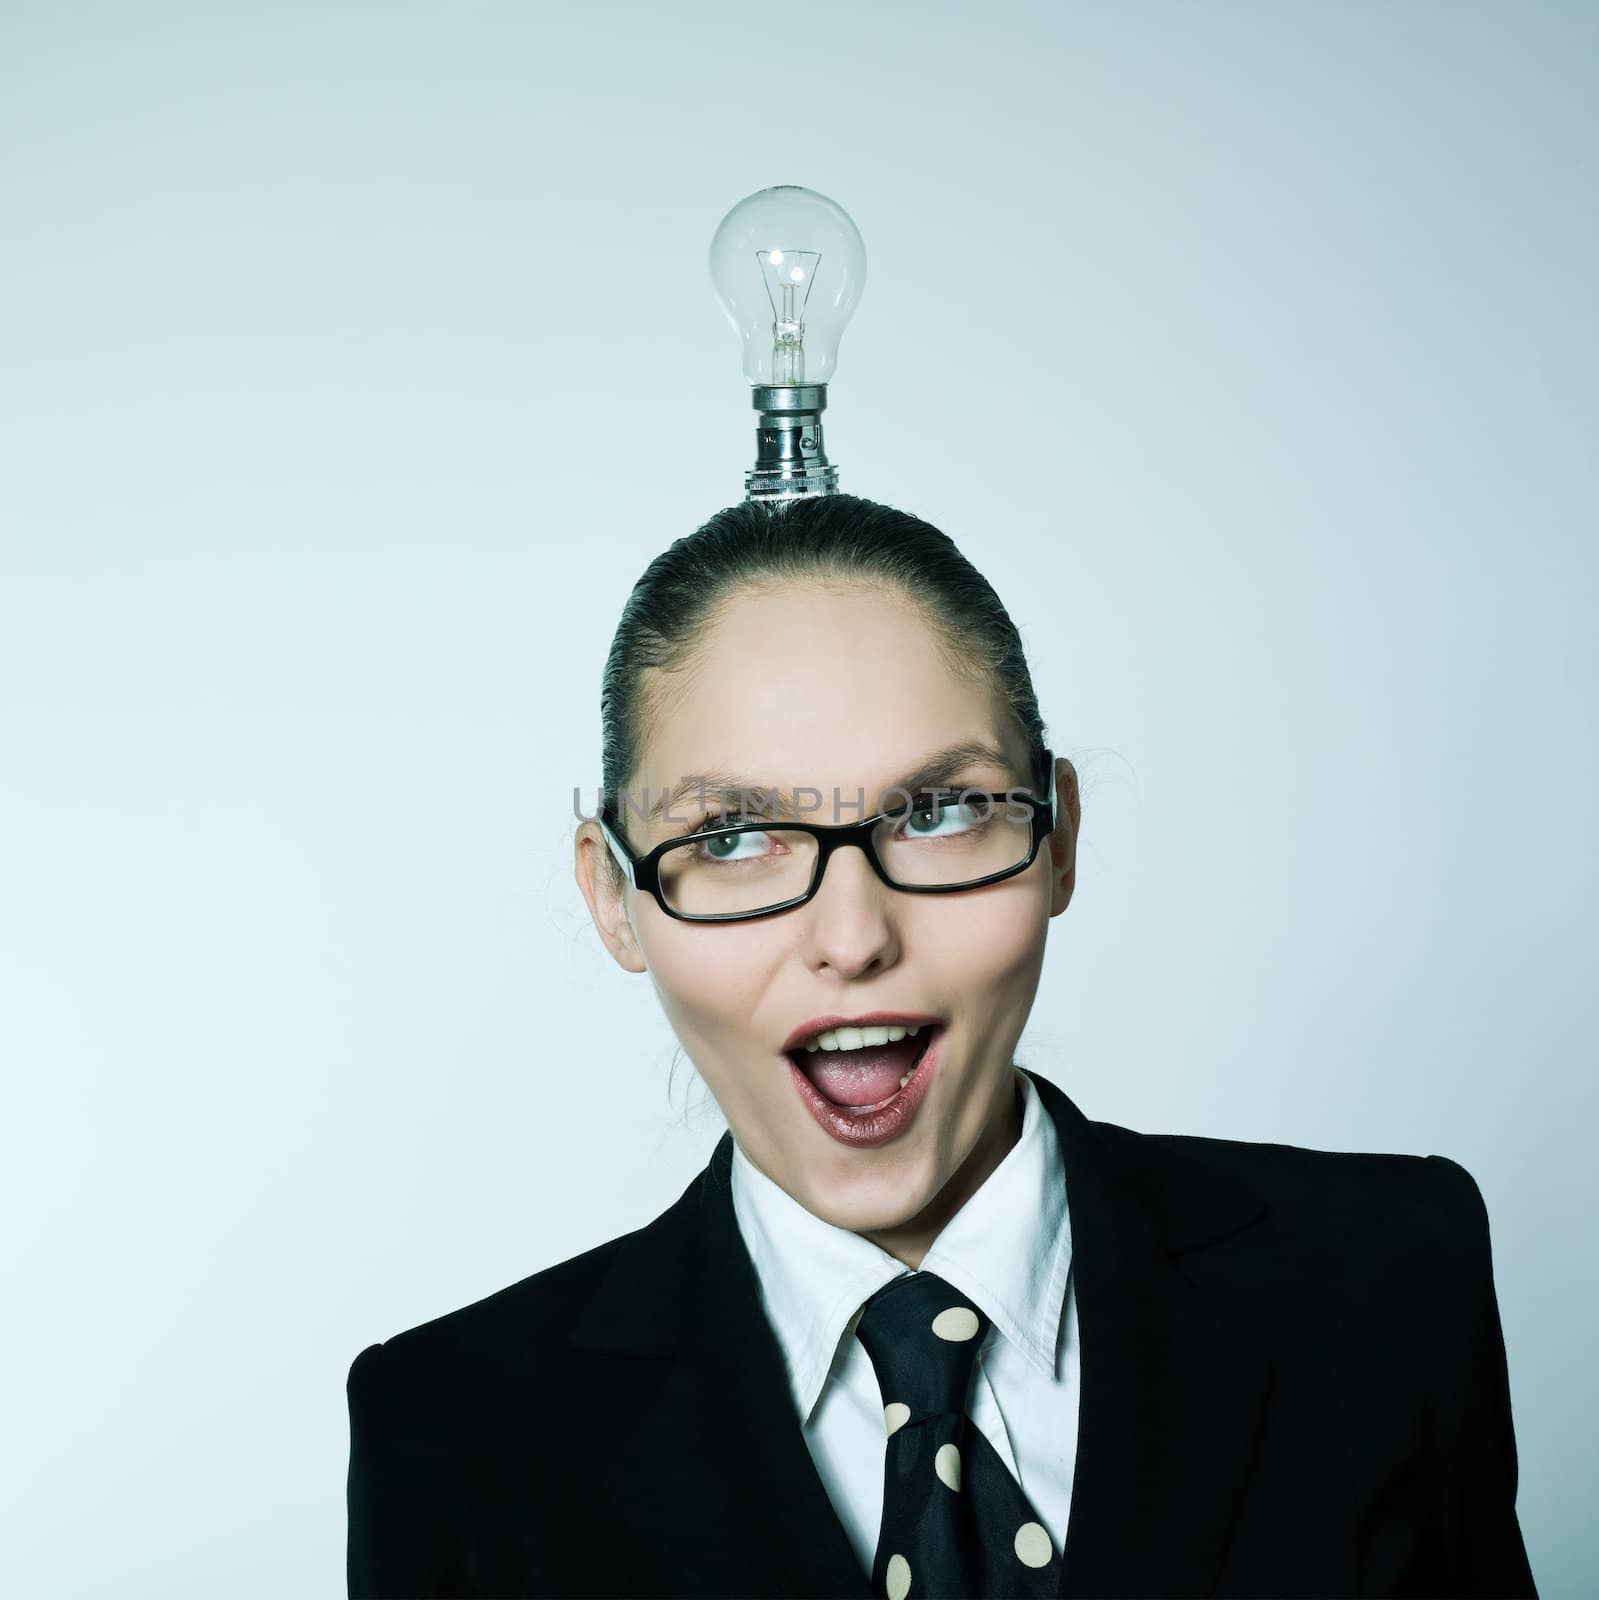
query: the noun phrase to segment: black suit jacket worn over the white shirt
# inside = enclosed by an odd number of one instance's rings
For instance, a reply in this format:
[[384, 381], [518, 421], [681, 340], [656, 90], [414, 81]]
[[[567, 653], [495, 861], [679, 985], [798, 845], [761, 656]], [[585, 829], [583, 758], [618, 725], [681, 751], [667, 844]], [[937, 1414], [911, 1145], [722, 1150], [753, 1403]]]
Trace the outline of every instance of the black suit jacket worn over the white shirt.
[[[1489, 1222], [1444, 1157], [1060, 1130], [1063, 1595], [1532, 1595]], [[723, 1134], [647, 1227], [349, 1371], [349, 1594], [869, 1597]]]

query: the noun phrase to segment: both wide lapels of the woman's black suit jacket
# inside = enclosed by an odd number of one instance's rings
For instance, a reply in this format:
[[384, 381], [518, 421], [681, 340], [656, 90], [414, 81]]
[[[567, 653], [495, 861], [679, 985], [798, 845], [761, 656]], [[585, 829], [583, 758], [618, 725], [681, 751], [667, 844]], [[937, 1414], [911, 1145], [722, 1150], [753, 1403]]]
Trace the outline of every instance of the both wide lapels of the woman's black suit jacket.
[[[1061, 1595], [1210, 1594], [1256, 1448], [1269, 1366], [1180, 1258], [1264, 1206], [1157, 1141], [1090, 1123], [1028, 1074], [1061, 1139], [1082, 1339]], [[733, 1136], [613, 1256], [571, 1342], [655, 1363], [605, 1475], [661, 1595], [869, 1600], [812, 1462], [733, 1213]]]

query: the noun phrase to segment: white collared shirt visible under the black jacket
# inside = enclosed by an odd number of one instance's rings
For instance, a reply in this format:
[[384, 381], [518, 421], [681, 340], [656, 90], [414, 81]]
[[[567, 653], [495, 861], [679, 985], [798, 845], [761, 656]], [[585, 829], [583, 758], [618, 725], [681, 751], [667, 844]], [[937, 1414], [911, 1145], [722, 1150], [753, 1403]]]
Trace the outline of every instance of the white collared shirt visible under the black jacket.
[[[1080, 1371], [1066, 1173], [1032, 1078], [1012, 1070], [1023, 1093], [1021, 1136], [944, 1224], [922, 1270], [946, 1278], [992, 1323], [978, 1349], [968, 1414], [1016, 1475], [1060, 1554], [1077, 1466]], [[855, 1323], [869, 1296], [911, 1269], [802, 1206], [736, 1138], [731, 1187], [805, 1443], [869, 1573], [888, 1440], [877, 1373]]]

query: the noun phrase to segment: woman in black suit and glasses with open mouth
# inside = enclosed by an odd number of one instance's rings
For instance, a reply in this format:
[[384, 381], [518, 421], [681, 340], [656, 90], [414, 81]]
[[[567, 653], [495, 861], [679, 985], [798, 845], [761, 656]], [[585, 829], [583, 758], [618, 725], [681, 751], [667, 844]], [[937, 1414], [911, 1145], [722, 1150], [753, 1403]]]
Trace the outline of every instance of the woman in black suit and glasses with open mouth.
[[1077, 774], [943, 533], [720, 512], [602, 718], [578, 883], [730, 1131], [647, 1227], [362, 1350], [351, 1595], [1533, 1594], [1469, 1174], [1015, 1064]]

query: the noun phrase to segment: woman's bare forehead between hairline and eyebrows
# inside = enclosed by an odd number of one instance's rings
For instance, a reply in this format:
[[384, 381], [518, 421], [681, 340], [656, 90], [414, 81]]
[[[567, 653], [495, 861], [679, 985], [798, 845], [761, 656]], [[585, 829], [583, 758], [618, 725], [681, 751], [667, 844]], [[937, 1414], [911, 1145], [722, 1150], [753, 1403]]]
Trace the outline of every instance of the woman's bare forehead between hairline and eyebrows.
[[960, 738], [1008, 742], [986, 677], [903, 594], [845, 582], [746, 589], [685, 669], [648, 686], [650, 782], [735, 770], [779, 782], [893, 782]]

